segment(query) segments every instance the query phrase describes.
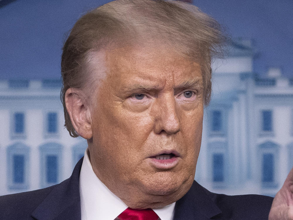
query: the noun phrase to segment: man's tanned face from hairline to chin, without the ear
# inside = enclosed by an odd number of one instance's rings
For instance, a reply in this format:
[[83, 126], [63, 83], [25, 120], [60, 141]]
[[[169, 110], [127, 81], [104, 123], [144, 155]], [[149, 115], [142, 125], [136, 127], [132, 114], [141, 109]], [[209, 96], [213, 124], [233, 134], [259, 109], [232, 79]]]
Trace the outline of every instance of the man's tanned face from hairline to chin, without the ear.
[[105, 67], [91, 97], [94, 172], [131, 208], [177, 201], [200, 151], [200, 66], [161, 49], [118, 48], [105, 53]]

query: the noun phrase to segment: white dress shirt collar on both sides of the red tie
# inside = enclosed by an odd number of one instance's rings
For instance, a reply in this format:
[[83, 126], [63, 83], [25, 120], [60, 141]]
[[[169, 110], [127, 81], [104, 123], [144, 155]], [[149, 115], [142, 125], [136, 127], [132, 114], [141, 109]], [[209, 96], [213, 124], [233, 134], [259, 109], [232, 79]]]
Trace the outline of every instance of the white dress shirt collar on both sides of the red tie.
[[[87, 150], [79, 176], [81, 220], [114, 220], [127, 205], [113, 194], [93, 172]], [[160, 209], [153, 209], [161, 220], [172, 220], [175, 202]]]

